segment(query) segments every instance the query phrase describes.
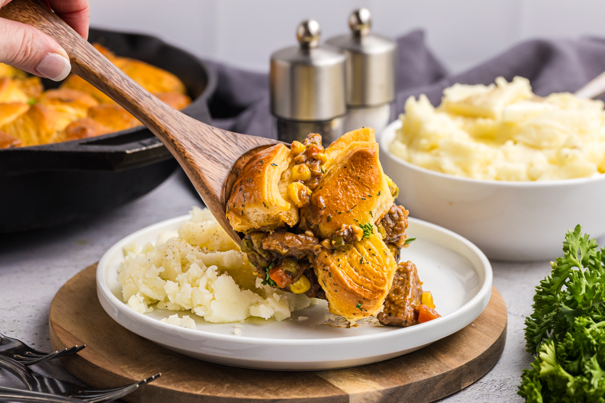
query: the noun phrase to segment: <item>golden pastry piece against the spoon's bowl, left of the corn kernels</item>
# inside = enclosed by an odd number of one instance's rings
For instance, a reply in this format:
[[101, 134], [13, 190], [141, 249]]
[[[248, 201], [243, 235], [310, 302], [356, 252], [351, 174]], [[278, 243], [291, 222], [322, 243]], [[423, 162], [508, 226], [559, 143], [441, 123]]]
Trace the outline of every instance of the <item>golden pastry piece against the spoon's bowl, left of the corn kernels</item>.
[[284, 224], [296, 225], [298, 210], [286, 195], [291, 162], [292, 155], [284, 144], [276, 144], [250, 158], [227, 202], [227, 218], [235, 231], [270, 231]]

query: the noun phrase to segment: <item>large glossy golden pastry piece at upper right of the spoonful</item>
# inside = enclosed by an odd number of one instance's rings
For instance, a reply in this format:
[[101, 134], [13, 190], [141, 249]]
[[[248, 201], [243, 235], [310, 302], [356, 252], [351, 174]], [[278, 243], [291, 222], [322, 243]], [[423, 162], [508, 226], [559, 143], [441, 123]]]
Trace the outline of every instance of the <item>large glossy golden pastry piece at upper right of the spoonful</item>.
[[374, 224], [395, 200], [388, 183], [378, 144], [353, 141], [321, 179], [310, 204], [302, 208], [301, 219], [322, 238], [332, 238], [342, 225]]

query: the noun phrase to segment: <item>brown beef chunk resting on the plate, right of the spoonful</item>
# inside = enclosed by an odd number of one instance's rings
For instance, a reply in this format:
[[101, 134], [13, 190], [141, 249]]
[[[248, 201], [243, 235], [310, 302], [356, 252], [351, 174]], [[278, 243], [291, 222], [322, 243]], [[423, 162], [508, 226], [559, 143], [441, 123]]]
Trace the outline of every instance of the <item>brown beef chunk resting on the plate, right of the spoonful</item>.
[[384, 309], [378, 321], [387, 326], [412, 326], [418, 323], [417, 309], [422, 301], [422, 283], [416, 265], [412, 262], [399, 263], [391, 291], [384, 301]]

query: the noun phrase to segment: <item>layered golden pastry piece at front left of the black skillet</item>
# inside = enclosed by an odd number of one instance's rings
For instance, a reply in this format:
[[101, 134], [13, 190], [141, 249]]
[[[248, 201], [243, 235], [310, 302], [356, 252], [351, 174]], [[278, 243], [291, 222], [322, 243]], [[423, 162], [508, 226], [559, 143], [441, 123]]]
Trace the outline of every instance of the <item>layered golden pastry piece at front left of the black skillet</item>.
[[73, 120], [71, 113], [34, 105], [11, 123], [1, 126], [0, 130], [21, 140], [25, 147], [37, 146], [63, 141], [65, 127]]

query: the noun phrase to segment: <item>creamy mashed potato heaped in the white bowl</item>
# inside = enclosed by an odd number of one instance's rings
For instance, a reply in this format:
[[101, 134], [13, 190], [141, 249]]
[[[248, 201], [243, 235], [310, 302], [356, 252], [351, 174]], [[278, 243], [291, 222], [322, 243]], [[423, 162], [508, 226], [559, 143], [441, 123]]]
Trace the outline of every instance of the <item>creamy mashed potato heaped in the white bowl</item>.
[[390, 150], [420, 167], [475, 179], [543, 181], [605, 172], [603, 102], [532, 93], [527, 79], [456, 84], [434, 108], [408, 98]]

